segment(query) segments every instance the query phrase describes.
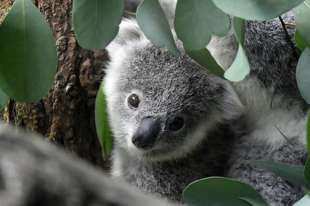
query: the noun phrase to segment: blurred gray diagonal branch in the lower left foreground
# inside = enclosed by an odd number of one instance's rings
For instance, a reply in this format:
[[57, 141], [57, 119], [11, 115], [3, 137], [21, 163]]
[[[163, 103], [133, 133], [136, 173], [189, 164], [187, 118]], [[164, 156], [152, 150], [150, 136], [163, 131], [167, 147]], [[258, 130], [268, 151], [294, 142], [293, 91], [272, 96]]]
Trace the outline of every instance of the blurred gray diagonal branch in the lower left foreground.
[[173, 206], [113, 181], [43, 137], [0, 124], [1, 206]]

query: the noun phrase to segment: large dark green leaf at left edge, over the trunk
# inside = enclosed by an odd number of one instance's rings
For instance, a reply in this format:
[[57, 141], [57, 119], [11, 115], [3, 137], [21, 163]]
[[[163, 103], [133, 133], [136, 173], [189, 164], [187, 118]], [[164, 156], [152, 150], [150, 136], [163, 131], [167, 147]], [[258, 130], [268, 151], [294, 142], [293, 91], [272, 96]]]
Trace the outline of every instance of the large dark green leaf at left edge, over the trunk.
[[16, 0], [0, 25], [0, 88], [26, 103], [42, 99], [57, 68], [54, 36], [31, 0]]

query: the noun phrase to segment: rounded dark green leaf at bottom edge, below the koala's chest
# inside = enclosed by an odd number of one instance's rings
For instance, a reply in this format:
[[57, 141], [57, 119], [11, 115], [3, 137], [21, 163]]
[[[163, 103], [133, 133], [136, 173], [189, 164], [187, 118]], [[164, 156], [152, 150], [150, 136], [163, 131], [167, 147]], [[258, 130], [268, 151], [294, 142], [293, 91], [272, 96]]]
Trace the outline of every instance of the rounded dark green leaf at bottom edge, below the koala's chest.
[[251, 186], [225, 177], [208, 177], [189, 184], [183, 199], [192, 206], [251, 206], [240, 198], [248, 198], [260, 206], [269, 206]]

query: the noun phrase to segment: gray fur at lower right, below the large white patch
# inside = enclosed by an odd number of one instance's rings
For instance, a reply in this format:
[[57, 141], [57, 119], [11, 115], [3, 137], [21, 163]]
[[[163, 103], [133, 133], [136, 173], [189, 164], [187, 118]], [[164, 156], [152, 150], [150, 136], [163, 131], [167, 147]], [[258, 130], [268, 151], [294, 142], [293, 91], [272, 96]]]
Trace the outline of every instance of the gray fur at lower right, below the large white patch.
[[304, 165], [308, 157], [305, 146], [298, 140], [293, 141], [294, 146], [283, 144], [273, 150], [259, 142], [248, 143], [246, 136], [240, 137], [234, 147], [228, 177], [248, 183], [271, 205], [293, 205], [304, 196], [299, 186], [245, 162], [262, 159]]

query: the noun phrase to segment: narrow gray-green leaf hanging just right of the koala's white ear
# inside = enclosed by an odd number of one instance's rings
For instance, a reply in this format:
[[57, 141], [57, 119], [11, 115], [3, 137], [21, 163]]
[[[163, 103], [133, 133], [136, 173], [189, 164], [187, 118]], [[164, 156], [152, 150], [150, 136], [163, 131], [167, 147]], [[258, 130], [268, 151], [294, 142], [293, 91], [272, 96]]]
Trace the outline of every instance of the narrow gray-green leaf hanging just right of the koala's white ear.
[[157, 0], [143, 0], [137, 9], [138, 25], [151, 42], [158, 47], [167, 47], [170, 53], [178, 57], [170, 26]]

